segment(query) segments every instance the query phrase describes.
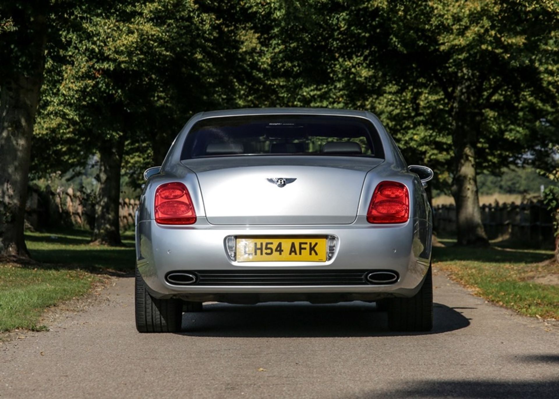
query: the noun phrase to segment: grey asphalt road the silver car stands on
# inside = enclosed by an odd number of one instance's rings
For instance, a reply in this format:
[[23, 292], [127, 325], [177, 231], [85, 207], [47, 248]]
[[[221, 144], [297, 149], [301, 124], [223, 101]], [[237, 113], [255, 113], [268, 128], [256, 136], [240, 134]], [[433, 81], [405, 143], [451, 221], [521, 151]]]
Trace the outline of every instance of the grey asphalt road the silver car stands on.
[[0, 346], [1, 398], [557, 398], [559, 331], [434, 277], [435, 328], [375, 305], [214, 303], [182, 334], [138, 334], [133, 279], [48, 333]]

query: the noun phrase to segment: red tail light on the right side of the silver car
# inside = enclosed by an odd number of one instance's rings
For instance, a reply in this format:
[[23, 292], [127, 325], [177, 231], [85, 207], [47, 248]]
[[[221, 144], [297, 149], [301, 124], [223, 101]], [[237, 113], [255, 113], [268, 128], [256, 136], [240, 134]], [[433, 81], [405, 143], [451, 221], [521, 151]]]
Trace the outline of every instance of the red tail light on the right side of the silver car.
[[408, 187], [398, 182], [378, 183], [369, 209], [369, 223], [404, 223], [410, 217], [410, 195]]

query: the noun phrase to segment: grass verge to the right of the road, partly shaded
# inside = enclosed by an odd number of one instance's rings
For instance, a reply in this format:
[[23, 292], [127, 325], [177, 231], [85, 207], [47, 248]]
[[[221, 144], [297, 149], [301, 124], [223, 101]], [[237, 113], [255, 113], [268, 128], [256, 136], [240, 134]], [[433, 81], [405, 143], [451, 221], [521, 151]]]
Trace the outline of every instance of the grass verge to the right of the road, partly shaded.
[[559, 320], [559, 287], [533, 282], [534, 277], [559, 274], [558, 264], [542, 264], [553, 251], [461, 248], [452, 240], [440, 241], [447, 247], [433, 248], [435, 266], [476, 295], [523, 315]]

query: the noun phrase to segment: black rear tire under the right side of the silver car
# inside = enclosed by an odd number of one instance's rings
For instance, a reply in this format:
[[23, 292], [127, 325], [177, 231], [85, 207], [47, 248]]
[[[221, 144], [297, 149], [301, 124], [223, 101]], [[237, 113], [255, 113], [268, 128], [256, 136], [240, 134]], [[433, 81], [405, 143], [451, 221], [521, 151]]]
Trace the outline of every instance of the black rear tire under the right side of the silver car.
[[423, 286], [411, 298], [390, 298], [388, 326], [391, 331], [430, 331], [433, 329], [433, 277], [431, 267]]

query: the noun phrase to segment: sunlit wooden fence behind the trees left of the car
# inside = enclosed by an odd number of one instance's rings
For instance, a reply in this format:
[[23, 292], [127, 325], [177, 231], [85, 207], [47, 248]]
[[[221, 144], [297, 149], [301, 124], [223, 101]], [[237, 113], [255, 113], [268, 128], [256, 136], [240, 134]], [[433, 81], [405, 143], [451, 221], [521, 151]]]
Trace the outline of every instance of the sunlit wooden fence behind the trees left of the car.
[[[77, 226], [93, 229], [95, 224], [96, 197], [87, 192], [74, 191], [72, 187], [45, 189], [30, 187], [27, 196], [26, 224], [33, 229]], [[122, 230], [134, 226], [134, 215], [140, 202], [121, 198], [119, 217]]]

